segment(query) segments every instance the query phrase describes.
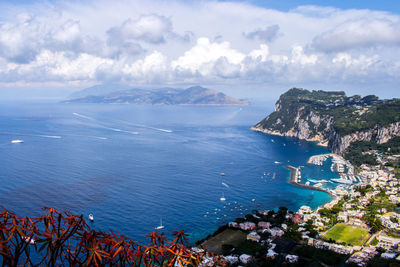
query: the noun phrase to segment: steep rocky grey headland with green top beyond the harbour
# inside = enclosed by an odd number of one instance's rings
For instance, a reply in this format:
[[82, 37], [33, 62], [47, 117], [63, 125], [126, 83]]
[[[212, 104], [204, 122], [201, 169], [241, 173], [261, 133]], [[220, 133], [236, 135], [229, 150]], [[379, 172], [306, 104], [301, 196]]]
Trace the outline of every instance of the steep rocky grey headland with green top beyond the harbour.
[[357, 141], [382, 144], [400, 135], [400, 102], [346, 97], [343, 92], [291, 89], [252, 129], [317, 141], [337, 154]]

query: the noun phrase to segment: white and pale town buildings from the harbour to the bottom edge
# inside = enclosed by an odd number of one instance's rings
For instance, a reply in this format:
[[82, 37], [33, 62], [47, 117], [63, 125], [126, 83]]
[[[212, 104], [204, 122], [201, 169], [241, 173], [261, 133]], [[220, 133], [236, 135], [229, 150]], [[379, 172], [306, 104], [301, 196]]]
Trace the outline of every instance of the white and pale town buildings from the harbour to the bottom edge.
[[[279, 251], [278, 243], [279, 240], [282, 240], [280, 237], [285, 235], [288, 230], [293, 231], [294, 229], [301, 234], [302, 241], [300, 241], [300, 244], [349, 255], [346, 263], [366, 266], [368, 261], [374, 257], [394, 259], [400, 262], [400, 237], [396, 237], [400, 236], [400, 214], [393, 211], [393, 208], [386, 210], [384, 207], [377, 207], [378, 210], [371, 213], [372, 206], [370, 206], [377, 201], [388, 203], [391, 207], [393, 207], [392, 204], [399, 204], [399, 180], [391, 170], [375, 170], [366, 165], [362, 165], [361, 171], [355, 175], [354, 168], [347, 161], [331, 154], [311, 157], [309, 163], [322, 165], [329, 157], [333, 157], [332, 168], [335, 171], [347, 171], [348, 175], [342, 174], [342, 178], [337, 179], [340, 180], [338, 183], [341, 184], [329, 192], [336, 198], [323, 207], [313, 210], [309, 206], [301, 206], [297, 213], [287, 213], [285, 219], [291, 220], [298, 226], [288, 229], [287, 221], [277, 225], [275, 222], [271, 223], [273, 221], [265, 220], [265, 217], [261, 219], [253, 215], [256, 220], [248, 220], [242, 223], [230, 222], [228, 227], [245, 231], [248, 241], [265, 246], [266, 258], [283, 256], [286, 263], [295, 263], [299, 258], [297, 255], [292, 255], [293, 253], [289, 254], [291, 251], [286, 253]], [[299, 172], [296, 172], [296, 179], [298, 179], [298, 176]], [[355, 179], [359, 181], [358, 184], [353, 184]], [[351, 183], [347, 184], [341, 180], [349, 180]], [[329, 213], [330, 210], [335, 212]], [[258, 211], [258, 213], [267, 216], [269, 211]], [[373, 234], [364, 244], [350, 246], [344, 243], [336, 244], [331, 242], [332, 240], [327, 242], [323, 239], [323, 233], [336, 223], [364, 228], [371, 233], [371, 214], [374, 216], [374, 222], [379, 221], [381, 223], [382, 229]], [[272, 216], [276, 216], [276, 214]], [[313, 231], [310, 230], [310, 225], [313, 226], [313, 230], [317, 231], [316, 236], [315, 232], [310, 233], [310, 231]], [[384, 252], [382, 253], [382, 251]], [[230, 255], [225, 258], [232, 264], [247, 264], [254, 260], [253, 256], [247, 254]]]

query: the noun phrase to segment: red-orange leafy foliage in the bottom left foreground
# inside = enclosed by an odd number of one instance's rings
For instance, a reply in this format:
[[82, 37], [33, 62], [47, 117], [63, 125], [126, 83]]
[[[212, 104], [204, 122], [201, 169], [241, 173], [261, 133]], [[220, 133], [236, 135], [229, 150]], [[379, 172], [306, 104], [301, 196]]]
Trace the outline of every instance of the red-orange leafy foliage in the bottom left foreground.
[[[225, 266], [223, 258], [188, 247], [183, 230], [168, 241], [164, 233], [147, 235], [148, 245], [121, 234], [90, 229], [82, 215], [43, 208], [39, 218], [0, 213], [2, 266]], [[212, 259], [204, 264], [204, 259]], [[211, 262], [211, 264], [210, 264]]]

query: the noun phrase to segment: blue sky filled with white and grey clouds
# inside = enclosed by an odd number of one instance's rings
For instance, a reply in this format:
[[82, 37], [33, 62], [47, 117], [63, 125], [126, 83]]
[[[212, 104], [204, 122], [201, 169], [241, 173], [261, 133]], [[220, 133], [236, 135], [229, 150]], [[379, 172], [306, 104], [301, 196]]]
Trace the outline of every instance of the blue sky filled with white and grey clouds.
[[399, 48], [400, 1], [0, 1], [3, 93], [122, 83], [400, 97]]

